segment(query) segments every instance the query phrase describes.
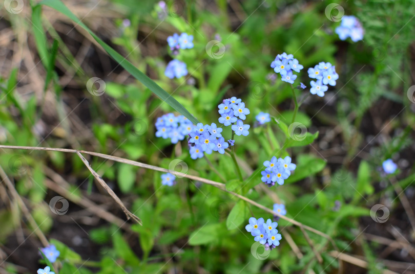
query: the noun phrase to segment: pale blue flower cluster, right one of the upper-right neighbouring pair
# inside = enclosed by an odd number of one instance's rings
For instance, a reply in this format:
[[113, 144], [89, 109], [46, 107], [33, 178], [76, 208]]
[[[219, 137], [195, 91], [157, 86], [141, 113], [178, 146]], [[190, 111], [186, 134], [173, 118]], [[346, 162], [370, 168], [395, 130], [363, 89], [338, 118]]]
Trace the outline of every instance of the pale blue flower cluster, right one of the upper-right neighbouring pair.
[[339, 79], [339, 75], [336, 73], [336, 67], [330, 63], [320, 62], [314, 67], [308, 69], [308, 77], [317, 79], [317, 81], [311, 81], [310, 93], [317, 94], [320, 97], [324, 96], [328, 86], [336, 85], [336, 80]]

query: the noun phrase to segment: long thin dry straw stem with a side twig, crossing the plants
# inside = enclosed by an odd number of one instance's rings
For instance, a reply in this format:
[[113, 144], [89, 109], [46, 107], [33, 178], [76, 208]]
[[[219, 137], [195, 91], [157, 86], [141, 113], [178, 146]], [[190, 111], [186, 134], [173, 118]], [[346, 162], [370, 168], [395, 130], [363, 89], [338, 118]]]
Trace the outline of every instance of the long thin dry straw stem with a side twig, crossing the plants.
[[[227, 193], [230, 193], [230, 194], [234, 195], [235, 197], [238, 197], [238, 198], [240, 198], [240, 199], [242, 199], [242, 200], [244, 200], [244, 201], [246, 201], [248, 203], [251, 203], [252, 205], [255, 205], [255, 207], [257, 207], [257, 208], [260, 208], [260, 209], [262, 209], [262, 210], [264, 210], [264, 211], [266, 211], [268, 213], [271, 213], [271, 214], [273, 214], [275, 216], [278, 216], [281, 219], [284, 219], [284, 220], [286, 220], [286, 221], [288, 221], [288, 222], [290, 222], [290, 223], [292, 223], [294, 225], [297, 225], [297, 226], [299, 226], [302, 229], [308, 230], [310, 232], [313, 232], [313, 233], [315, 233], [317, 235], [320, 235], [320, 236], [328, 239], [330, 241], [330, 243], [333, 245], [333, 247], [337, 249], [336, 244], [334, 243], [333, 239], [329, 235], [327, 235], [327, 234], [325, 234], [325, 233], [323, 233], [323, 232], [321, 232], [319, 230], [316, 230], [313, 227], [310, 227], [308, 225], [302, 224], [302, 223], [300, 223], [300, 222], [298, 222], [298, 221], [296, 221], [294, 219], [291, 219], [291, 218], [288, 218], [288, 217], [286, 217], [284, 215], [281, 215], [281, 214], [279, 214], [279, 213], [277, 213], [277, 212], [275, 212], [275, 211], [273, 211], [271, 209], [268, 209], [268, 208], [264, 207], [263, 205], [257, 203], [256, 201], [253, 201], [253, 200], [251, 200], [249, 198], [246, 198], [245, 196], [242, 196], [242, 195], [237, 194], [235, 192], [226, 190], [225, 189], [225, 185], [222, 184], [221, 182], [217, 182], [217, 181], [213, 181], [213, 180], [201, 178], [201, 177], [194, 176], [194, 175], [184, 174], [184, 173], [181, 173], [181, 172], [174, 172], [174, 171], [171, 171], [171, 170], [168, 170], [168, 169], [165, 169], [165, 168], [160, 168], [160, 167], [156, 167], [156, 166], [152, 166], [152, 165], [148, 165], [148, 164], [143, 164], [143, 163], [140, 163], [140, 162], [132, 161], [132, 160], [129, 160], [129, 159], [124, 159], [124, 158], [120, 158], [120, 157], [116, 157], [116, 156], [111, 156], [111, 155], [97, 153], [97, 152], [91, 152], [91, 151], [75, 150], [75, 149], [66, 149], [66, 148], [27, 147], [27, 146], [5, 146], [5, 145], [0, 145], [0, 148], [4, 148], [4, 149], [26, 149], [26, 150], [60, 151], [60, 152], [77, 153], [77, 154], [79, 153], [78, 156], [80, 155], [81, 159], [83, 158], [83, 156], [80, 153], [84, 153], [84, 154], [89, 154], [89, 155], [92, 155], [92, 156], [101, 157], [101, 158], [104, 158], [104, 159], [109, 159], [111, 161], [115, 161], [115, 162], [118, 162], [118, 163], [128, 164], [128, 165], [137, 166], [137, 167], [141, 167], [141, 168], [152, 169], [152, 170], [156, 170], [156, 171], [160, 171], [160, 172], [171, 172], [171, 173], [173, 173], [173, 174], [175, 174], [177, 176], [186, 177], [186, 178], [189, 178], [189, 179], [192, 179], [192, 180], [200, 181], [200, 182], [203, 182], [204, 184], [208, 184], [208, 185], [217, 187], [217, 188], [219, 188], [219, 189], [221, 189], [221, 190], [223, 190], [223, 191], [225, 191]], [[82, 159], [82, 161], [86, 164], [86, 166], [91, 171], [91, 173], [98, 179], [98, 181], [100, 182], [100, 184], [101, 185], [104, 184], [104, 185], [107, 186], [107, 184], [105, 184], [105, 181], [103, 181], [102, 178], [89, 166], [88, 161], [85, 158]], [[111, 189], [109, 189], [109, 190], [112, 191]], [[115, 195], [115, 193], [114, 193], [114, 195]], [[118, 197], [117, 197], [117, 199], [119, 200]]]

